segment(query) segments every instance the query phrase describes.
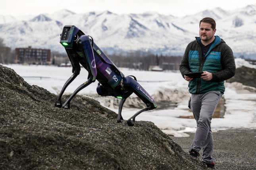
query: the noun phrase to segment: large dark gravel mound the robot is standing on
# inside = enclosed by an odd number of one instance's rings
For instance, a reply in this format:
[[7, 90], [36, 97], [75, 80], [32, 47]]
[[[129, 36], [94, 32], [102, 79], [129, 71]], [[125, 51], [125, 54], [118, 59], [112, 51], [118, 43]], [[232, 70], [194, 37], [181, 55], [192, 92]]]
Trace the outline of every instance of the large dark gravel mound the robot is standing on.
[[0, 169], [204, 169], [151, 122], [128, 127], [96, 100], [65, 110], [55, 99], [0, 65]]

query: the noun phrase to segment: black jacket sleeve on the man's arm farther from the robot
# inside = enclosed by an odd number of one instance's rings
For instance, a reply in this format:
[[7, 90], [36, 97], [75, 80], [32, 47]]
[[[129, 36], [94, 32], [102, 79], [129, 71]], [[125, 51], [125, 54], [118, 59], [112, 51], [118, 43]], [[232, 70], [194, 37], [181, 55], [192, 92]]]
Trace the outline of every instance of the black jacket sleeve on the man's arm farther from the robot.
[[228, 45], [225, 45], [221, 53], [222, 70], [212, 73], [211, 81], [214, 82], [224, 81], [235, 75], [235, 58], [231, 48]]

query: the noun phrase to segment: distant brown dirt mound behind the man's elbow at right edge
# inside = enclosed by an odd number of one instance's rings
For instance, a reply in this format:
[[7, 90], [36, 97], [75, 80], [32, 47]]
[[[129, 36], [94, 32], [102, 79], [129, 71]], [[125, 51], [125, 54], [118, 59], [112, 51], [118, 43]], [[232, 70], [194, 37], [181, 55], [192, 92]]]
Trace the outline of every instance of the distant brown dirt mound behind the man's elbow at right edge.
[[235, 76], [228, 79], [227, 82], [239, 82], [246, 86], [256, 88], [256, 69], [242, 66], [236, 69]]

